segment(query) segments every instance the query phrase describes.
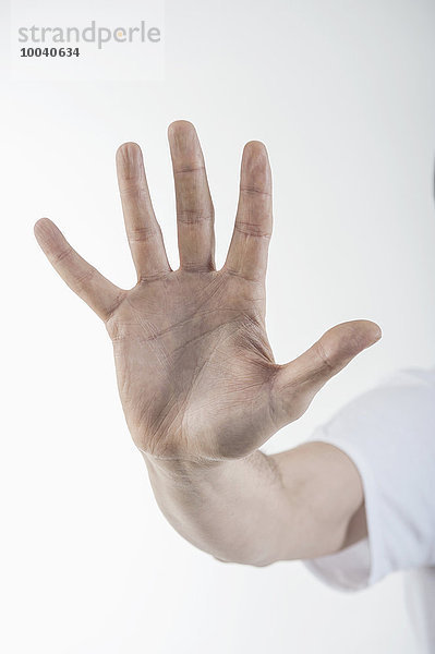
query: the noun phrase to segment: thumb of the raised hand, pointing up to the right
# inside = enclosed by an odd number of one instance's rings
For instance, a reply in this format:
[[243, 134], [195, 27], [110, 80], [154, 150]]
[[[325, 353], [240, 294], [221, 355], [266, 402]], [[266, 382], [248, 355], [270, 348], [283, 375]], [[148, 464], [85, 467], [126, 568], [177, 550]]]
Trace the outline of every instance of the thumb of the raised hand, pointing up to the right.
[[326, 382], [380, 336], [380, 327], [370, 320], [341, 323], [328, 329], [298, 359], [279, 366], [271, 390], [271, 410], [278, 428], [298, 420]]

